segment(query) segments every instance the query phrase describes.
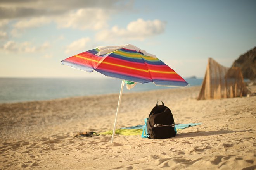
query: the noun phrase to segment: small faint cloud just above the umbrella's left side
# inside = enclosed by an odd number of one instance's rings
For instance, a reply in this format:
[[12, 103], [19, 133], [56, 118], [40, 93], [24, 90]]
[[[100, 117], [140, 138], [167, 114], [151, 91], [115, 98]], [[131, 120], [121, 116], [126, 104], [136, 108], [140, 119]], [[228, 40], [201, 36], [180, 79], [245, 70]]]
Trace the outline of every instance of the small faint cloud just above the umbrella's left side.
[[86, 45], [90, 41], [91, 40], [88, 37], [78, 39], [78, 40], [74, 41], [73, 43], [71, 43], [70, 45], [68, 45], [66, 47], [65, 52], [66, 53], [71, 53], [71, 52], [76, 52], [76, 51], [85, 51]]

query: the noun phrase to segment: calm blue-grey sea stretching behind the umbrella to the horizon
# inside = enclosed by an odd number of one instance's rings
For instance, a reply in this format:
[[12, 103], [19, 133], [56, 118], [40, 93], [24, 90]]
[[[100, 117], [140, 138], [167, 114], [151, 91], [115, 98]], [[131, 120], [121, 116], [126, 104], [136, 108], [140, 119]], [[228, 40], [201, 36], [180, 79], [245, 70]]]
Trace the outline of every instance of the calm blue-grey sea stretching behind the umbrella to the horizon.
[[[200, 86], [203, 79], [185, 79], [190, 86]], [[73, 96], [119, 93], [121, 80], [112, 78], [0, 78], [0, 103], [40, 101]], [[167, 89], [153, 83], [137, 84], [123, 93]]]

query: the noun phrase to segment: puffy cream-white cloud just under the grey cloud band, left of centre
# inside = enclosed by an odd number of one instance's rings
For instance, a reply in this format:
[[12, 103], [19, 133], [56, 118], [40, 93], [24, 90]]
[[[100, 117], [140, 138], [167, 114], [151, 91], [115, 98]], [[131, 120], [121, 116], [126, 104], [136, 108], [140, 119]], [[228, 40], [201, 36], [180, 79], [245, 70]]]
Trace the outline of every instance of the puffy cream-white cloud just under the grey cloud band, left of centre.
[[99, 30], [107, 27], [110, 12], [100, 8], [78, 9], [75, 12], [57, 17], [59, 28]]

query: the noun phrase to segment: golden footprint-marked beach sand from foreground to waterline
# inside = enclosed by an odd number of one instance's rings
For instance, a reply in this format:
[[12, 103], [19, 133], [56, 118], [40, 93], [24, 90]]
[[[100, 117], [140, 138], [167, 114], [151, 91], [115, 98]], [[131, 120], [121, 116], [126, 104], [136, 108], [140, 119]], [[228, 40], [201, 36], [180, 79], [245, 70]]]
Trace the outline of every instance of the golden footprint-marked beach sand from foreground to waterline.
[[119, 94], [0, 104], [0, 169], [256, 169], [256, 96], [198, 101], [199, 90], [123, 94], [117, 129], [144, 124], [158, 100], [176, 124], [202, 124], [170, 139], [117, 134], [114, 143], [74, 136], [112, 130]]

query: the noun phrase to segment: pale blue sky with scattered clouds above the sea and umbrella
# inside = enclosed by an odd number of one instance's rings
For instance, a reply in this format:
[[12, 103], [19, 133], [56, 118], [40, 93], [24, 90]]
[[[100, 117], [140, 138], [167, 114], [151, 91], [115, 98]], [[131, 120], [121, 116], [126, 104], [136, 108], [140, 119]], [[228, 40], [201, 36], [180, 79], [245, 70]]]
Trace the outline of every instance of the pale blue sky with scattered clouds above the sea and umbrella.
[[0, 0], [0, 77], [104, 77], [61, 65], [132, 44], [180, 76], [204, 77], [256, 46], [255, 0]]

